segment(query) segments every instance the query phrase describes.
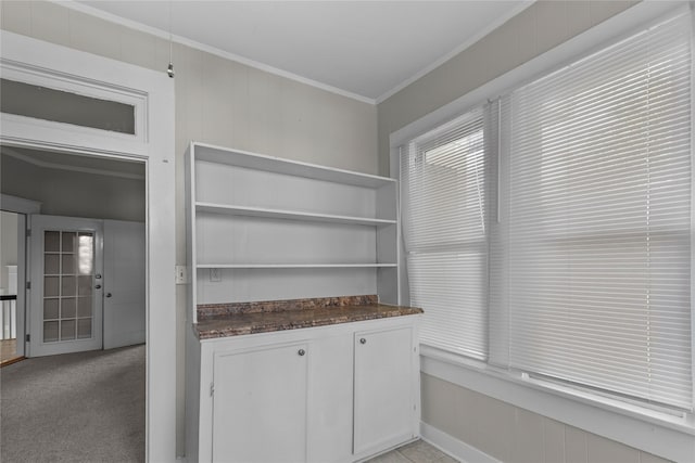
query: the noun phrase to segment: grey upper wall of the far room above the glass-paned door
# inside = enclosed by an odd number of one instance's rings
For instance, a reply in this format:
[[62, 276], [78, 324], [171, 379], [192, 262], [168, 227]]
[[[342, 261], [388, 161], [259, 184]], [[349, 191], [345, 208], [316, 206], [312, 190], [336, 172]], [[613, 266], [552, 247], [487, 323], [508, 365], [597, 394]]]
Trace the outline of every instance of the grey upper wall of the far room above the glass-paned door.
[[2, 155], [1, 191], [41, 203], [41, 214], [144, 221], [142, 180], [39, 167]]

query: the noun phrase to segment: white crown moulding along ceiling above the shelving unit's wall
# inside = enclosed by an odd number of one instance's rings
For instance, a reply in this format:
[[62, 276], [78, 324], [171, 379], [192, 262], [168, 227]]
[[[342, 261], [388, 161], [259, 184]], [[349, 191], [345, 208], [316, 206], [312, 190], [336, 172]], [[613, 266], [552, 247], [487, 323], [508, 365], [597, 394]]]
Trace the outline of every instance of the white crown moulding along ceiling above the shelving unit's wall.
[[[277, 68], [277, 67], [273, 67], [273, 66], [269, 66], [267, 64], [263, 64], [263, 63], [260, 63], [257, 61], [250, 60], [248, 57], [243, 57], [243, 56], [240, 56], [240, 55], [235, 54], [235, 53], [229, 53], [227, 51], [219, 50], [218, 48], [211, 47], [211, 46], [198, 42], [195, 40], [188, 39], [186, 37], [181, 37], [181, 36], [177, 36], [177, 35], [169, 36], [169, 33], [164, 31], [162, 29], [157, 29], [156, 27], [147, 26], [147, 25], [144, 25], [142, 23], [138, 23], [136, 21], [131, 21], [131, 20], [127, 20], [127, 18], [121, 17], [121, 16], [116, 16], [115, 14], [111, 14], [111, 13], [108, 13], [105, 11], [102, 11], [102, 10], [99, 10], [99, 9], [96, 9], [96, 8], [86, 5], [86, 4], [81, 4], [81, 3], [78, 3], [78, 2], [75, 2], [75, 1], [65, 2], [63, 0], [49, 0], [49, 1], [51, 1], [53, 3], [58, 3], [61, 7], [70, 8], [71, 10], [78, 11], [80, 13], [89, 14], [90, 16], [99, 17], [100, 20], [104, 20], [104, 21], [108, 21], [110, 23], [118, 24], [121, 26], [128, 27], [130, 29], [139, 30], [141, 33], [146, 33], [146, 34], [149, 34], [151, 36], [155, 36], [155, 37], [157, 37], [160, 39], [164, 39], [164, 40], [167, 40], [167, 41], [170, 39], [174, 43], [179, 43], [179, 44], [182, 44], [182, 46], [186, 46], [186, 47], [190, 47], [190, 48], [195, 49], [195, 50], [204, 51], [206, 53], [224, 57], [225, 60], [235, 61], [237, 63], [241, 63], [241, 64], [247, 65], [249, 67], [253, 67], [255, 69], [263, 70], [263, 72], [268, 73], [268, 74], [273, 74], [273, 75], [276, 75], [276, 76], [279, 76], [279, 77], [283, 77], [286, 79], [294, 80], [296, 82], [304, 83], [304, 85], [307, 85], [307, 86], [311, 86], [311, 87], [314, 87], [314, 88], [317, 88], [319, 90], [324, 90], [324, 91], [327, 91], [327, 92], [330, 92], [330, 93], [334, 93], [334, 94], [338, 94], [340, 97], [345, 97], [345, 98], [349, 98], [349, 99], [352, 99], [352, 100], [359, 101], [362, 103], [367, 103], [367, 104], [372, 104], [372, 105], [377, 104], [377, 101], [375, 99], [363, 97], [361, 94], [353, 93], [353, 92], [350, 92], [350, 91], [346, 91], [346, 90], [342, 90], [342, 89], [339, 89], [337, 87], [332, 87], [332, 86], [329, 86], [327, 83], [319, 82], [317, 80], [312, 80], [312, 79], [308, 79], [306, 77], [302, 77], [300, 75], [296, 75], [296, 74], [293, 74], [293, 73], [290, 73], [290, 72], [287, 72], [287, 70], [282, 70], [282, 69]], [[176, 55], [174, 56], [174, 59], [176, 59]], [[176, 60], [174, 60], [174, 65], [176, 65]], [[164, 72], [164, 69], [162, 69], [162, 72]]]

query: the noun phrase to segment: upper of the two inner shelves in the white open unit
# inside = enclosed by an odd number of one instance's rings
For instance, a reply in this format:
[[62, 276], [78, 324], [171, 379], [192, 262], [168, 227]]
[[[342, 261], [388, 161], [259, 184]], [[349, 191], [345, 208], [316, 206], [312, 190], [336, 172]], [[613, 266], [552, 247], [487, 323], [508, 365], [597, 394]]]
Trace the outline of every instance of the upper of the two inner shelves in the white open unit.
[[268, 219], [303, 220], [313, 222], [344, 223], [355, 226], [390, 226], [395, 220], [376, 219], [369, 217], [338, 216], [332, 214], [304, 213], [300, 210], [270, 209], [263, 207], [233, 206], [215, 203], [197, 203], [199, 213], [226, 214], [230, 216], [262, 217]]

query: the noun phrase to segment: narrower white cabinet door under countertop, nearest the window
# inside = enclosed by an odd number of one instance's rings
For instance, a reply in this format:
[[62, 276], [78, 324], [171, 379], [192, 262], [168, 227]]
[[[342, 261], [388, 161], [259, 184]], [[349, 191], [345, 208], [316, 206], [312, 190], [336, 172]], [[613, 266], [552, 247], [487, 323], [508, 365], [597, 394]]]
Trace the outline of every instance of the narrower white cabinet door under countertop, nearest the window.
[[355, 334], [355, 454], [377, 451], [413, 434], [413, 330]]

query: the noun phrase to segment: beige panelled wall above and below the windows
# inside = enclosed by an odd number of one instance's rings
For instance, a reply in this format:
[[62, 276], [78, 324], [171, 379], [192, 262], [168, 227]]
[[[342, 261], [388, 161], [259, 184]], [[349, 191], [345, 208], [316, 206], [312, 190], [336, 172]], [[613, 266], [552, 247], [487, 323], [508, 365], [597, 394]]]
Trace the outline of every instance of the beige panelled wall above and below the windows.
[[[379, 171], [389, 136], [637, 2], [538, 1], [378, 105]], [[422, 374], [422, 421], [503, 462], [660, 462], [658, 456]]]

